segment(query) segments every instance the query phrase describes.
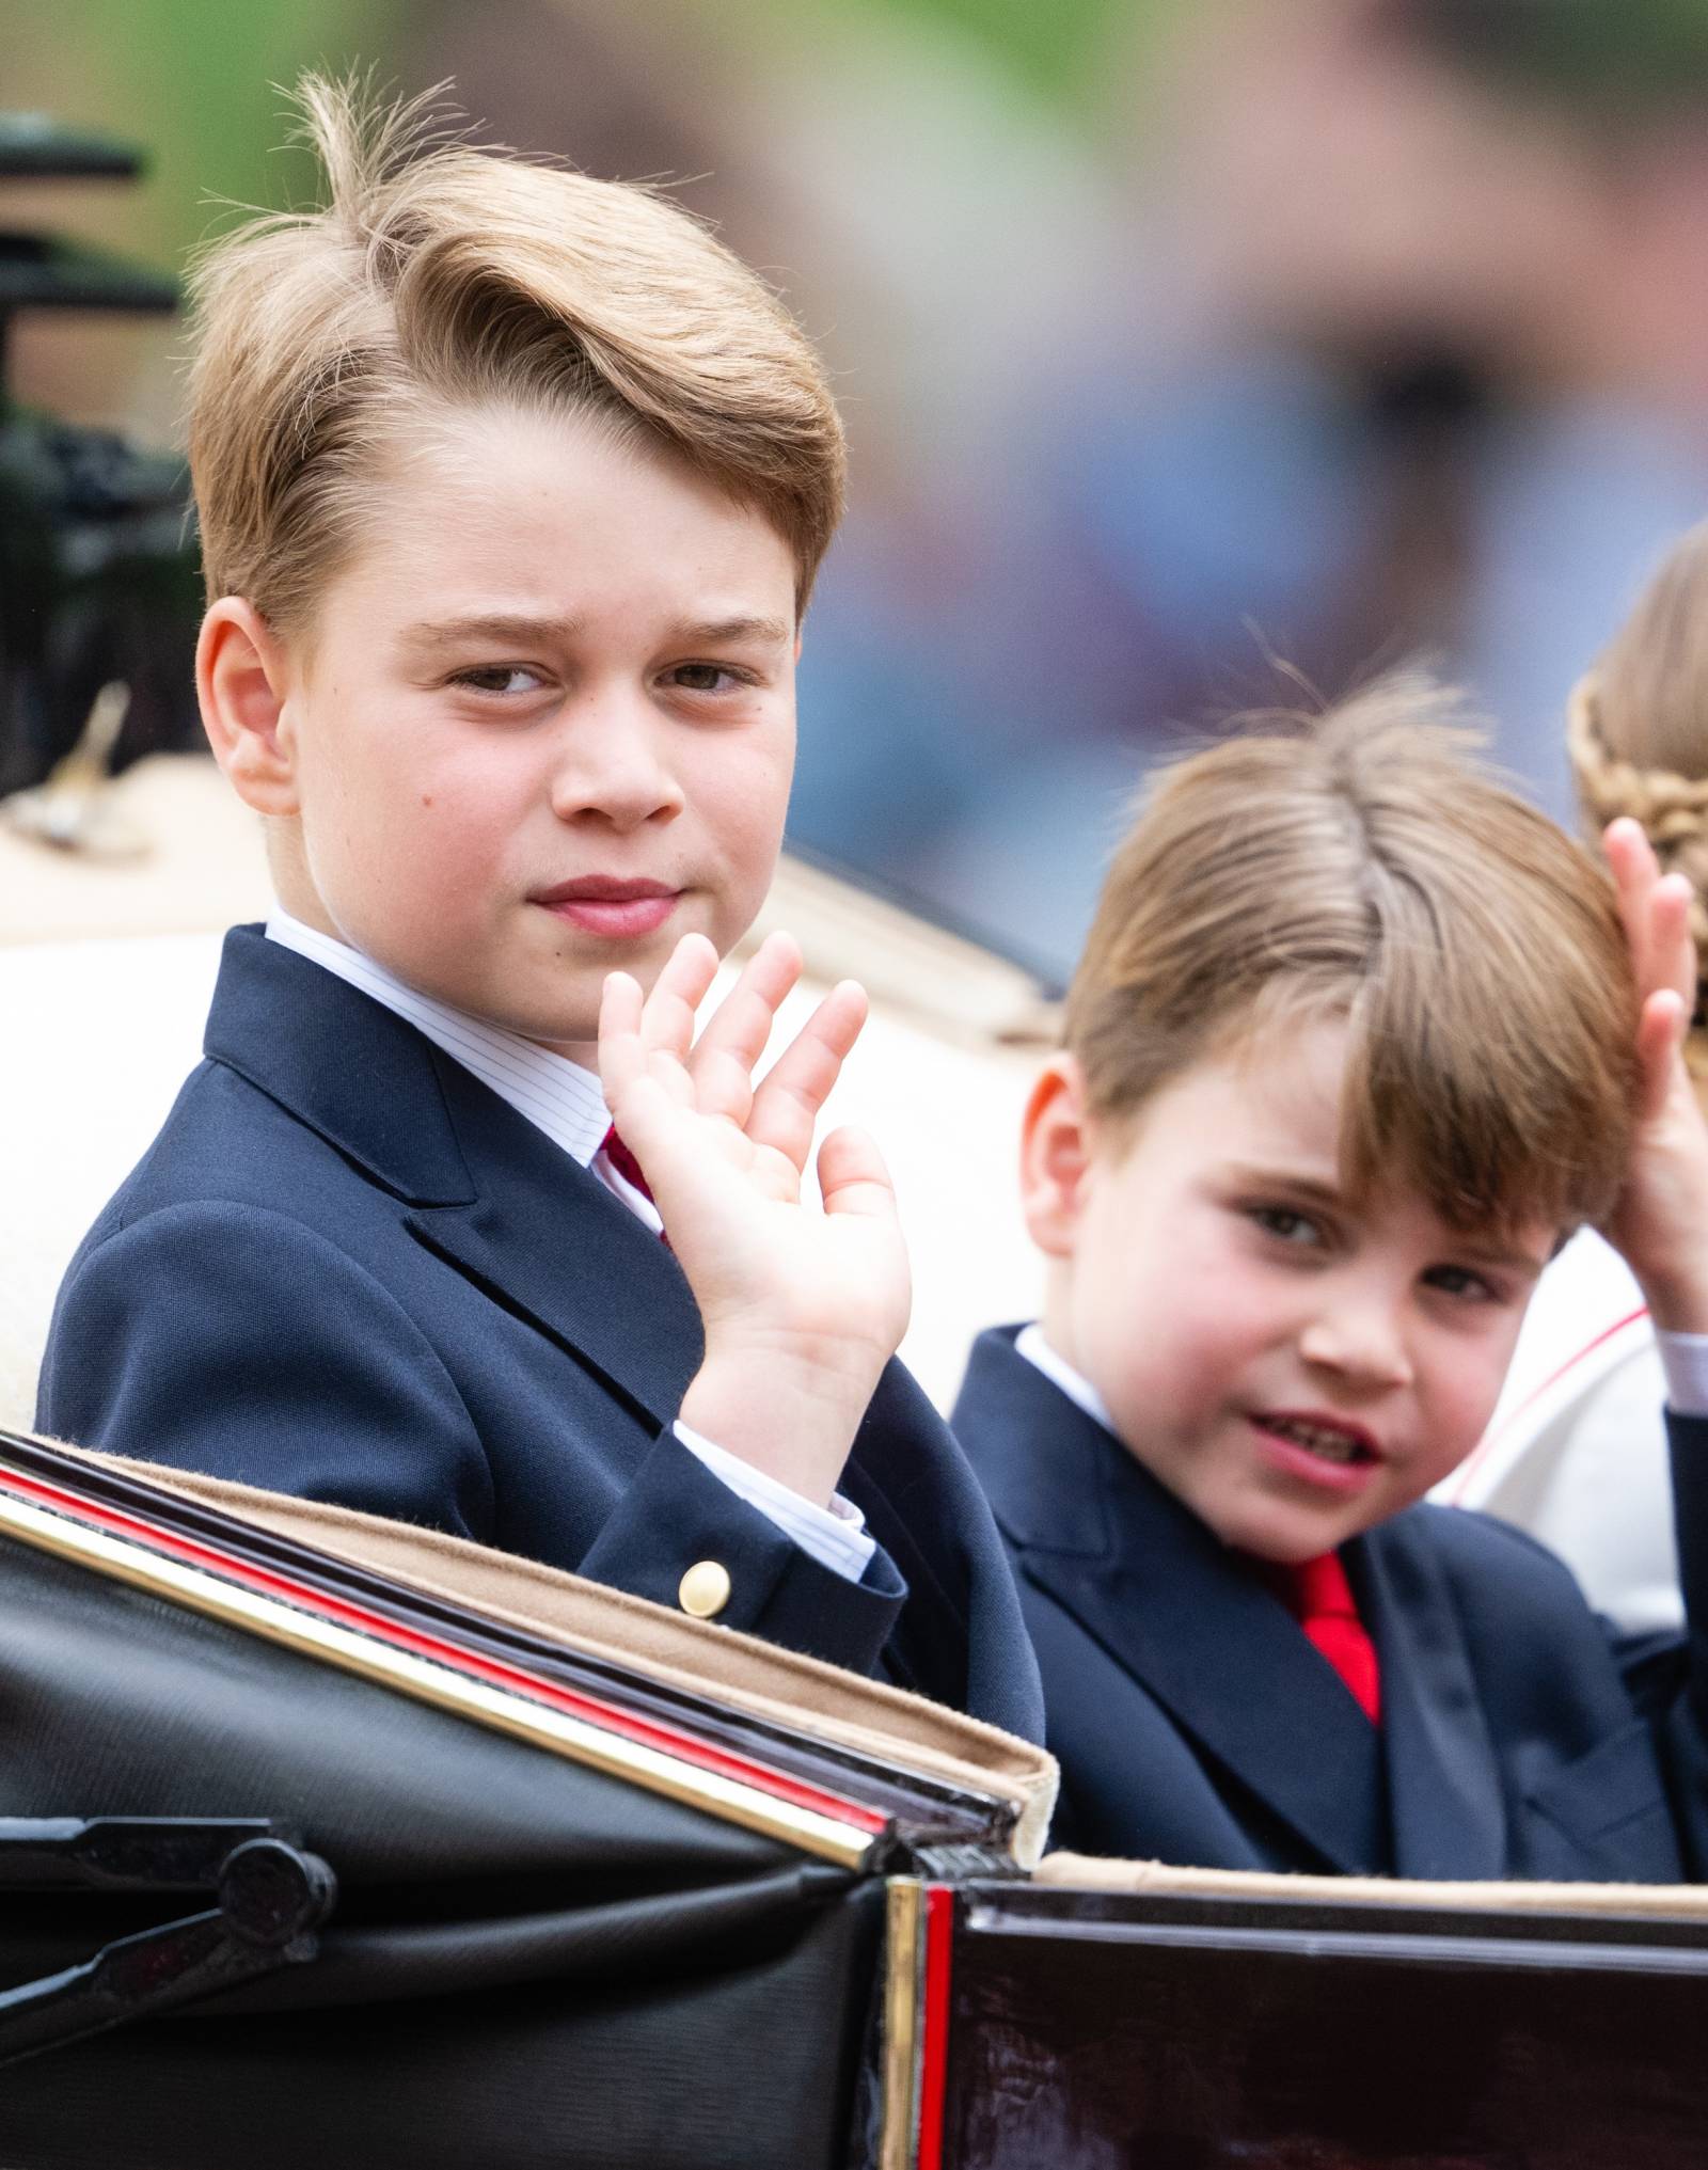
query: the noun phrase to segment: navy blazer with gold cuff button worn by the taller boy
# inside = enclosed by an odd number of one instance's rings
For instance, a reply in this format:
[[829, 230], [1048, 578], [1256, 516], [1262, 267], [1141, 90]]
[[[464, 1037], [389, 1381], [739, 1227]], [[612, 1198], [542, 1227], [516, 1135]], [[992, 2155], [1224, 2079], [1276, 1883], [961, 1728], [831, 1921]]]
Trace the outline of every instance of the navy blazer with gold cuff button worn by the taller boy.
[[606, 1185], [415, 1026], [258, 929], [206, 1061], [85, 1237], [37, 1424], [425, 1523], [721, 1614], [1040, 1736], [990, 1510], [901, 1365], [844, 1476], [879, 1543], [820, 1567], [673, 1434], [701, 1322]]

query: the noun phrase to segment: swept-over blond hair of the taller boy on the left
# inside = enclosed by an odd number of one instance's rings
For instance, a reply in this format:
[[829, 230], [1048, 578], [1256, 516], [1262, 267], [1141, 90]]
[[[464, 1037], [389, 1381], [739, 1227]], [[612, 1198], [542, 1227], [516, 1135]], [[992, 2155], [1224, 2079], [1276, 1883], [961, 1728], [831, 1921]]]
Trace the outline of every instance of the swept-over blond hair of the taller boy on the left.
[[384, 456], [434, 412], [590, 412], [783, 536], [805, 610], [842, 512], [823, 367], [760, 278], [625, 182], [436, 139], [425, 102], [308, 76], [328, 182], [193, 271], [189, 449], [208, 597], [306, 621]]

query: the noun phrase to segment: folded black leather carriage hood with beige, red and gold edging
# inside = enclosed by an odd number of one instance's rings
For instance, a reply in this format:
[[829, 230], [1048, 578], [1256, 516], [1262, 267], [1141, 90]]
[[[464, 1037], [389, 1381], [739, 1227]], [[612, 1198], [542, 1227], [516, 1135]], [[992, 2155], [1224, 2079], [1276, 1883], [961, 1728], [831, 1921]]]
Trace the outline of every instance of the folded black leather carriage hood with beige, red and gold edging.
[[[0, 2163], [842, 2166], [883, 2114], [892, 1886], [1014, 1866], [1046, 1758], [573, 1578], [295, 1502], [265, 1528], [224, 1491], [0, 1450]], [[514, 1614], [449, 1595], [464, 1558]], [[603, 1647], [523, 1625], [543, 1591]], [[640, 1630], [651, 1662], [612, 1656]], [[712, 1693], [731, 1658], [760, 1693]], [[916, 1769], [859, 1738], [885, 1701], [938, 1736]], [[263, 1912], [289, 1886], [260, 1938], [230, 1888], [256, 1855], [228, 1868], [256, 1840]]]

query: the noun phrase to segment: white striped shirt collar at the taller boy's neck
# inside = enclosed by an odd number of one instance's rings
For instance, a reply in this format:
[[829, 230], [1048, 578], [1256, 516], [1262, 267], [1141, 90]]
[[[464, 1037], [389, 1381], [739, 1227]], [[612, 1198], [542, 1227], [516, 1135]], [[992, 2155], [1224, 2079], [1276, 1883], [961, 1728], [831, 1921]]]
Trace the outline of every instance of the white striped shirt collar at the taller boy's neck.
[[599, 1152], [610, 1128], [610, 1113], [599, 1078], [582, 1063], [573, 1063], [566, 1055], [553, 1055], [551, 1048], [536, 1046], [501, 1024], [488, 1024], [484, 1018], [451, 1009], [449, 1003], [436, 1003], [430, 994], [421, 994], [382, 963], [365, 957], [362, 950], [339, 942], [336, 935], [323, 935], [317, 927], [304, 927], [284, 909], [276, 909], [267, 920], [267, 940], [336, 972], [339, 979], [347, 979], [352, 987], [360, 987], [362, 994], [395, 1011], [451, 1061], [471, 1070], [482, 1085], [490, 1085], [499, 1100], [545, 1131], [553, 1146], [560, 1146], [582, 1167], [592, 1167], [638, 1220], [647, 1222], [649, 1228], [660, 1226], [651, 1200], [625, 1183]]

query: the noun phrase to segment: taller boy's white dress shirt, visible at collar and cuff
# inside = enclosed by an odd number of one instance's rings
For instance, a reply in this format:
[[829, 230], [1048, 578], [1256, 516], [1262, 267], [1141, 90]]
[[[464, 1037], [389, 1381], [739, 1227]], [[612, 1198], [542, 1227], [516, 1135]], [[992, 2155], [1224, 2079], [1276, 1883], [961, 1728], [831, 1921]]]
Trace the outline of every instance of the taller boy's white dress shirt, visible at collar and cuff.
[[[471, 1070], [499, 1100], [527, 1118], [553, 1146], [590, 1170], [653, 1235], [664, 1233], [664, 1222], [651, 1198], [619, 1174], [603, 1152], [610, 1111], [599, 1078], [582, 1063], [569, 1061], [566, 1055], [553, 1055], [551, 1048], [523, 1039], [521, 1033], [510, 1033], [501, 1024], [486, 1024], [482, 1018], [451, 1009], [449, 1003], [436, 1003], [430, 994], [421, 994], [382, 963], [365, 957], [362, 950], [339, 942], [336, 935], [323, 935], [317, 927], [304, 927], [289, 911], [273, 911], [267, 920], [267, 940], [323, 966], [339, 979], [347, 979], [352, 987], [360, 987], [362, 994], [395, 1011], [451, 1061]], [[727, 1447], [690, 1426], [677, 1424], [675, 1434], [712, 1476], [740, 1493], [749, 1506], [812, 1554], [820, 1567], [846, 1575], [849, 1582], [859, 1582], [877, 1541], [851, 1499], [838, 1493], [829, 1508], [814, 1506], [812, 1499], [790, 1491], [788, 1484], [744, 1463], [738, 1454], [729, 1454]]]

